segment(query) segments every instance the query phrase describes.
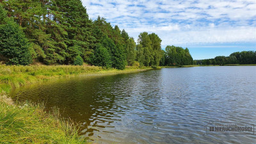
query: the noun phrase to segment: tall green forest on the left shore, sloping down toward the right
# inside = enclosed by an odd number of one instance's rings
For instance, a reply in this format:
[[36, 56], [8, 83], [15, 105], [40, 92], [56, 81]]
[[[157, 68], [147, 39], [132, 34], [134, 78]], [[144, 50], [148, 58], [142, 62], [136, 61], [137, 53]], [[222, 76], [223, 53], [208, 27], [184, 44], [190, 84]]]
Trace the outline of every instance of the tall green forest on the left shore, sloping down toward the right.
[[0, 0], [0, 61], [7, 65], [191, 65], [189, 50], [142, 32], [137, 43], [106, 19], [89, 19], [80, 0]]

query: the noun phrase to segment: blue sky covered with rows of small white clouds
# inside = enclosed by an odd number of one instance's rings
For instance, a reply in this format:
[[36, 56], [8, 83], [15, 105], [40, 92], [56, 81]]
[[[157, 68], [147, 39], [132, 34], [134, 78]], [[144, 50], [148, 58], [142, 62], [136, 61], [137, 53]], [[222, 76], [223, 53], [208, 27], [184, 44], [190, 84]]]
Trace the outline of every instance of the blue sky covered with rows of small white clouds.
[[188, 47], [195, 60], [256, 51], [256, 0], [82, 0], [91, 19], [106, 18], [137, 40], [147, 31]]

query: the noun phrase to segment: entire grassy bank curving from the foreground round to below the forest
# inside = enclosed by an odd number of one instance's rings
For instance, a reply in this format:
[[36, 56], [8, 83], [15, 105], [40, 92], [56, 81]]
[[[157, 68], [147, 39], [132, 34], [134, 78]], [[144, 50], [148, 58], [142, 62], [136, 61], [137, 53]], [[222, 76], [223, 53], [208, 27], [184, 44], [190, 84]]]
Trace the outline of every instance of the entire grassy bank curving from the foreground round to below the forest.
[[110, 75], [139, 72], [149, 67], [125, 70], [93, 66], [6, 66], [0, 65], [0, 143], [86, 143], [78, 126], [63, 120], [58, 111], [45, 113], [38, 104], [14, 103], [6, 97], [12, 88], [78, 75]]

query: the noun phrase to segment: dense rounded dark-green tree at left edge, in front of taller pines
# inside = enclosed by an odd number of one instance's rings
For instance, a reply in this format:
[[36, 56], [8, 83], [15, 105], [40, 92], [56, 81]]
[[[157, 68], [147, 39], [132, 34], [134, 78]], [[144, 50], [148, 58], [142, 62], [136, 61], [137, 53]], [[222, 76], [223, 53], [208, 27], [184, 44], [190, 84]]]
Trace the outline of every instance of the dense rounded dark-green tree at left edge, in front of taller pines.
[[29, 65], [30, 44], [19, 25], [13, 20], [8, 20], [0, 26], [0, 33], [0, 54], [8, 58], [8, 64]]

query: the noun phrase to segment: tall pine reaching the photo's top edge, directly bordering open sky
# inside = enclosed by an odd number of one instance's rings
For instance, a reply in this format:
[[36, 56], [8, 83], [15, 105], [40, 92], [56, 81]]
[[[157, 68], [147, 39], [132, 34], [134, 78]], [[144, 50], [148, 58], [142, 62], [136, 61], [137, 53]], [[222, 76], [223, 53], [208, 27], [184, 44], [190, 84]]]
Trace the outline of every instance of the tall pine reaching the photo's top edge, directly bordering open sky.
[[69, 53], [66, 63], [73, 61], [77, 52], [88, 61], [95, 47], [95, 38], [92, 36], [92, 21], [89, 20], [86, 8], [80, 0], [57, 0], [56, 4], [59, 7], [58, 11], [65, 12], [63, 14], [65, 21], [62, 24], [67, 26], [65, 30], [68, 33], [68, 38], [65, 40]]

